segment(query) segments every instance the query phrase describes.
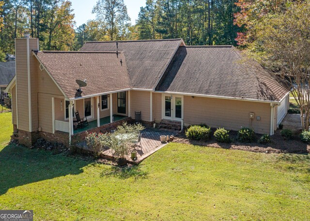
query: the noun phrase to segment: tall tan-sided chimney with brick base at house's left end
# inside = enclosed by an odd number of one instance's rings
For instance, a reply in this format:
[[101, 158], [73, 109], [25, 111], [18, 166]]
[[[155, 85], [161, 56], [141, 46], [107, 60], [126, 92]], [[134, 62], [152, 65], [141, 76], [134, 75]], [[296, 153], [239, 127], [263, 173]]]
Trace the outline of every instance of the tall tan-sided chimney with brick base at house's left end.
[[39, 50], [39, 40], [25, 30], [24, 38], [15, 39], [16, 119], [19, 143], [28, 147], [37, 140], [38, 129], [37, 62], [32, 50]]

